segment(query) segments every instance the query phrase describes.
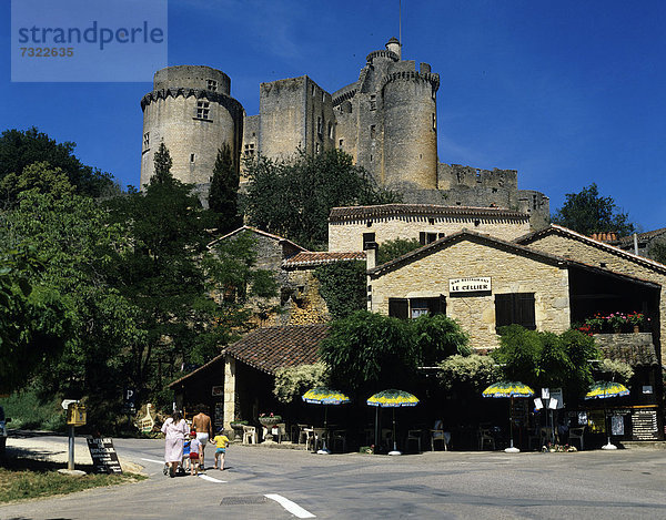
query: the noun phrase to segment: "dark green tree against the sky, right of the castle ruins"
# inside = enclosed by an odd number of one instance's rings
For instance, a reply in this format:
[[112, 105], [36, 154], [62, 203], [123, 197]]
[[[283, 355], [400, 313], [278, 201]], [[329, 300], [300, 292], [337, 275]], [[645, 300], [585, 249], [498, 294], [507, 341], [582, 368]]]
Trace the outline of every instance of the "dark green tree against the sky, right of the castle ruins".
[[619, 212], [613, 197], [602, 197], [597, 185], [592, 183], [579, 193], [567, 193], [564, 205], [553, 215], [553, 223], [584, 235], [617, 233], [618, 236], [634, 232], [634, 224], [626, 213]]

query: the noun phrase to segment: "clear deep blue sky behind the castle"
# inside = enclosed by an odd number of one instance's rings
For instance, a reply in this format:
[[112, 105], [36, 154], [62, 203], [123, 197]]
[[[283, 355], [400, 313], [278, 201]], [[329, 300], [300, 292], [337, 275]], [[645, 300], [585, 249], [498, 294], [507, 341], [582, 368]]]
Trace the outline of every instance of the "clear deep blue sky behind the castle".
[[[249, 114], [259, 84], [310, 75], [333, 92], [398, 32], [397, 0], [171, 0], [169, 64], [232, 80]], [[431, 63], [441, 162], [515, 169], [559, 207], [596, 182], [643, 230], [666, 226], [666, 2], [402, 2], [403, 58]], [[31, 125], [77, 143], [90, 165], [139, 184], [135, 83], [12, 83], [2, 0], [0, 129]]]

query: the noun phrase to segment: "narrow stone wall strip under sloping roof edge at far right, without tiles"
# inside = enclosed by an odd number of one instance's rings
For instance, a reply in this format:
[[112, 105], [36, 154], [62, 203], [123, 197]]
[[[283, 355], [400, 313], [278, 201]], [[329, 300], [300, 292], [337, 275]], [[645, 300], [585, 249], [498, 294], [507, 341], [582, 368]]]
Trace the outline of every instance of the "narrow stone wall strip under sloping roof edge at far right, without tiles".
[[[657, 265], [653, 267], [647, 263], [643, 263], [639, 258], [632, 259], [627, 257], [624, 252], [618, 251], [615, 253], [610, 247], [596, 247], [573, 237], [568, 238], [556, 234], [538, 237], [529, 243], [529, 247], [659, 284], [662, 292], [657, 336], [659, 338], [664, 337], [666, 332], [666, 266], [659, 267]], [[655, 341], [655, 345], [662, 363], [666, 364], [666, 356], [662, 351], [660, 340]]]

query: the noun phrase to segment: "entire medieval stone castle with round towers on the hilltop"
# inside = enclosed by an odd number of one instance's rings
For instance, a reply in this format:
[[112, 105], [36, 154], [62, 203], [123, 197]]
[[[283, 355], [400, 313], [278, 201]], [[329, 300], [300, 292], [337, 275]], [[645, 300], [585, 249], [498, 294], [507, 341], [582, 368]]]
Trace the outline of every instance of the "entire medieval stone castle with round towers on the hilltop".
[[153, 91], [141, 100], [141, 185], [154, 172], [162, 141], [174, 176], [195, 184], [202, 195], [223, 143], [239, 169], [241, 156], [286, 159], [299, 149], [306, 154], [340, 149], [405, 203], [501, 207], [528, 213], [533, 228], [544, 227], [548, 197], [518, 190], [515, 170], [438, 162], [438, 88], [440, 75], [428, 63], [417, 68], [403, 60], [395, 38], [367, 54], [355, 82], [332, 94], [307, 75], [262, 83], [255, 115], [246, 115], [231, 96], [231, 80], [222, 71], [169, 67], [155, 73]]

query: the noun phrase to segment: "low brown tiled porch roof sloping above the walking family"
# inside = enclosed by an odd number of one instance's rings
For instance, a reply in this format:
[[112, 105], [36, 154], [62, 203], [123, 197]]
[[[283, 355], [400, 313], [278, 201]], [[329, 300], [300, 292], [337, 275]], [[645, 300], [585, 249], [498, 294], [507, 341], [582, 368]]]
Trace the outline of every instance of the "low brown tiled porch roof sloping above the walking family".
[[251, 332], [225, 349], [225, 354], [258, 370], [275, 370], [319, 360], [319, 347], [329, 325], [286, 325]]

